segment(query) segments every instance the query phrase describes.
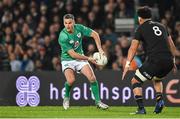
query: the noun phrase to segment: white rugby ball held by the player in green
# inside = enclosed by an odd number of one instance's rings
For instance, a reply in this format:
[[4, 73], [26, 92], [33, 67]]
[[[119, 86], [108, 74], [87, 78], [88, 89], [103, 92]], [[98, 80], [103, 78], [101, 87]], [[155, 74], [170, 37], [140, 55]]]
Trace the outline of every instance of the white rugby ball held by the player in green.
[[96, 60], [98, 65], [104, 66], [107, 64], [108, 60], [105, 55], [100, 54], [99, 52], [95, 52], [93, 54], [93, 58]]

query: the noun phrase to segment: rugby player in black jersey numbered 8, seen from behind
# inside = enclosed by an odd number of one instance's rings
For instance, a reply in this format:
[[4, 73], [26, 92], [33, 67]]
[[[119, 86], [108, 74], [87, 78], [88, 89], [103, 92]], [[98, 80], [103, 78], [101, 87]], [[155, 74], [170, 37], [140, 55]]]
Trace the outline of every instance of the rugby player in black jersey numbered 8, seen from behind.
[[140, 25], [131, 42], [122, 79], [129, 70], [130, 63], [140, 42], [142, 42], [147, 58], [143, 65], [136, 70], [135, 76], [131, 80], [134, 97], [138, 105], [134, 114], [146, 114], [142, 98], [142, 84], [146, 80], [153, 81], [156, 91], [154, 112], [158, 114], [162, 112], [164, 107], [162, 79], [172, 69], [176, 71], [175, 53], [177, 50], [165, 26], [151, 20], [151, 9], [149, 7], [139, 8], [137, 14]]

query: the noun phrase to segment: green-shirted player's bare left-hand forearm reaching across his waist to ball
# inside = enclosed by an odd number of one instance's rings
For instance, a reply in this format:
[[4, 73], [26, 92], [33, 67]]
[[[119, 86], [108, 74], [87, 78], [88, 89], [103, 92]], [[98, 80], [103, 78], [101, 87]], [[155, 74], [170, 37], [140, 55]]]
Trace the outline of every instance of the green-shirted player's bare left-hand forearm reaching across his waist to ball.
[[96, 60], [93, 59], [92, 57], [87, 57], [87, 56], [84, 56], [84, 55], [80, 55], [80, 54], [76, 53], [73, 49], [70, 49], [67, 52], [74, 59], [77, 59], [77, 60], [88, 60], [91, 63], [96, 64]]

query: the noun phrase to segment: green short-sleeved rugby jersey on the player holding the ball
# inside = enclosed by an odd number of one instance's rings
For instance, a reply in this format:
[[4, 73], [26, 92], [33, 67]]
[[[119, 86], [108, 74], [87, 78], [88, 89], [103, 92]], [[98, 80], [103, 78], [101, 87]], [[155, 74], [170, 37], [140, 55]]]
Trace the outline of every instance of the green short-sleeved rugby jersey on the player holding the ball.
[[82, 38], [83, 36], [90, 37], [92, 29], [85, 27], [81, 24], [74, 25], [74, 32], [68, 33], [66, 28], [64, 28], [59, 35], [58, 42], [61, 46], [61, 61], [74, 60], [67, 51], [74, 49], [75, 52], [83, 55], [82, 49]]

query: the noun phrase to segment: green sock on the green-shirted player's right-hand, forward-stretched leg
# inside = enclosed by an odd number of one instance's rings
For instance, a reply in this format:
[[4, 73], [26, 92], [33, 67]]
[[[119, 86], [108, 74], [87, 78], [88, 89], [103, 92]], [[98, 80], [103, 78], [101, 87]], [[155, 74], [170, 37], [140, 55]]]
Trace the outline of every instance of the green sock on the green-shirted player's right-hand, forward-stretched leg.
[[99, 97], [99, 86], [98, 86], [98, 82], [95, 81], [93, 83], [91, 83], [91, 91], [95, 97], [95, 103], [97, 104], [100, 101], [100, 97]]

